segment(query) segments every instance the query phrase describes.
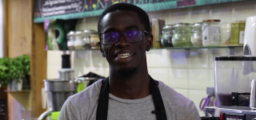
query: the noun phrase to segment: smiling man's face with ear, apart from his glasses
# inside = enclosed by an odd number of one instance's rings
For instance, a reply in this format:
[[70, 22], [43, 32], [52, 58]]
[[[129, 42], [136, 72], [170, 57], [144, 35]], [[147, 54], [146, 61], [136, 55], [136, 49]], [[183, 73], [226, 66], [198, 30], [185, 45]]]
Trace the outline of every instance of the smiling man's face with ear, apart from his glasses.
[[102, 54], [106, 57], [110, 68], [114, 68], [122, 75], [143, 68], [143, 62], [146, 64], [146, 51], [150, 50], [152, 39], [150, 35], [144, 33], [144, 26], [138, 14], [133, 11], [117, 10], [106, 14], [102, 18], [101, 33], [123, 33], [131, 30], [142, 30], [142, 41], [130, 43], [121, 35], [118, 43], [101, 45]]

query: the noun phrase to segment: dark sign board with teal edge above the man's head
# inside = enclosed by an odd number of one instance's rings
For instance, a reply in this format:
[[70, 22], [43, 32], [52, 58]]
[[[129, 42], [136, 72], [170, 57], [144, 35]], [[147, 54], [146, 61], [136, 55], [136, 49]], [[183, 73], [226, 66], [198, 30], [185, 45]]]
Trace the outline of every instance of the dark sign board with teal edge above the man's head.
[[156, 11], [241, 1], [247, 0], [36, 0], [34, 22], [99, 16], [108, 6], [120, 2], [134, 4], [145, 11]]

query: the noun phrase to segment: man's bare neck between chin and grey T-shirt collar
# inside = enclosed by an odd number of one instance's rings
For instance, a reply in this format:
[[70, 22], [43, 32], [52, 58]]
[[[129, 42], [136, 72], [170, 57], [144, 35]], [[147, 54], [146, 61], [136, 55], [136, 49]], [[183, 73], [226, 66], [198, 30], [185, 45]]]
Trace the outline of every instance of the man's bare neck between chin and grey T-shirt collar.
[[[112, 71], [112, 72], [111, 72]], [[121, 99], [142, 99], [150, 95], [150, 76], [146, 71], [123, 76], [110, 68], [110, 93]]]

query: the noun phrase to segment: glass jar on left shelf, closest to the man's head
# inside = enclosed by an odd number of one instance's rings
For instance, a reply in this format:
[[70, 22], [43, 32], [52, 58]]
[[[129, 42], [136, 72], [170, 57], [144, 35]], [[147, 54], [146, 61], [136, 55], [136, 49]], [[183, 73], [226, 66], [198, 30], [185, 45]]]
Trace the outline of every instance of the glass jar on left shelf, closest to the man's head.
[[84, 45], [82, 46], [82, 48], [84, 49], [88, 49], [91, 48], [91, 34], [92, 33], [97, 33], [97, 31], [95, 30], [91, 30], [91, 29], [85, 29], [82, 32], [82, 40], [84, 42]]

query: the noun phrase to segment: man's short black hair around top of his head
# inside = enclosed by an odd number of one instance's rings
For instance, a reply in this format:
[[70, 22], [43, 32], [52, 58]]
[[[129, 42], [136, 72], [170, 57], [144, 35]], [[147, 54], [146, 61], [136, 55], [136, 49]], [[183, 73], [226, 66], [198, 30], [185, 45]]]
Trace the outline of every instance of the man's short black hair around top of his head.
[[139, 17], [140, 21], [144, 25], [144, 29], [147, 32], [150, 32], [150, 18], [149, 18], [149, 16], [146, 14], [146, 12], [144, 10], [142, 10], [138, 6], [134, 6], [134, 5], [129, 4], [129, 3], [117, 3], [117, 4], [114, 4], [114, 5], [109, 6], [108, 8], [106, 8], [106, 10], [104, 10], [102, 15], [99, 17], [99, 20], [98, 20], [98, 37], [99, 38], [101, 38], [100, 34], [101, 34], [101, 29], [102, 29], [102, 18], [106, 14], [108, 14], [110, 12], [113, 12], [115, 10], [130, 10], [130, 11], [134, 11], [135, 13], [138, 14], [138, 17]]

